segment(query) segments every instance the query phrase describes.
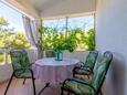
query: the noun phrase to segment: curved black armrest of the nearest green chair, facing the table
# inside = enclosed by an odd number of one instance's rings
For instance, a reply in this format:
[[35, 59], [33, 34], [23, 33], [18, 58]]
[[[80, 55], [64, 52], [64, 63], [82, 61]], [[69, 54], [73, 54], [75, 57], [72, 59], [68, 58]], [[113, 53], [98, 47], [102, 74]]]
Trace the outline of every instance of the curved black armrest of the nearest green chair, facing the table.
[[74, 82], [77, 82], [77, 83], [80, 83], [80, 84], [87, 85], [88, 87], [91, 87], [91, 88], [96, 93], [96, 89], [93, 87], [93, 85], [91, 85], [89, 83], [86, 83], [85, 81], [76, 80], [76, 78], [67, 78], [67, 80], [65, 80], [65, 81], [63, 82], [62, 87], [65, 85], [65, 83], [66, 83], [67, 81], [74, 81]]

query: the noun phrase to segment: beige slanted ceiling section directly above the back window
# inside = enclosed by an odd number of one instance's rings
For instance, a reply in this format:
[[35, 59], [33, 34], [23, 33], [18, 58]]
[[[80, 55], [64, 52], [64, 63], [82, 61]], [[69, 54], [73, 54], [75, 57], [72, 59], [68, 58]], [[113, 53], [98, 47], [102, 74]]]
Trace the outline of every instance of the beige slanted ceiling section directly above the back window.
[[96, 10], [96, 0], [63, 0], [54, 6], [42, 9], [42, 18], [57, 17], [84, 12], [93, 12]]

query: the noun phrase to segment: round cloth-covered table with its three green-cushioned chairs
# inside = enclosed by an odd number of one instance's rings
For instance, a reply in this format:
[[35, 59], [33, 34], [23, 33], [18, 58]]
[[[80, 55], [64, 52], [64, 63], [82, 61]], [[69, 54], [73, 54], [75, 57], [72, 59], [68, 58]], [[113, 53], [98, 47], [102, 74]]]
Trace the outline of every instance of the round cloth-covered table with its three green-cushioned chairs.
[[[99, 61], [97, 61], [98, 51], [89, 51], [85, 62], [68, 57], [63, 57], [62, 61], [44, 57], [31, 65], [25, 50], [11, 50], [10, 55], [13, 73], [4, 95], [13, 76], [24, 78], [23, 85], [27, 78], [32, 78], [34, 95], [40, 95], [46, 87], [57, 83], [61, 83], [61, 95], [103, 95], [102, 86], [113, 60], [109, 51], [106, 51]], [[45, 82], [39, 94], [35, 91], [35, 78]]]

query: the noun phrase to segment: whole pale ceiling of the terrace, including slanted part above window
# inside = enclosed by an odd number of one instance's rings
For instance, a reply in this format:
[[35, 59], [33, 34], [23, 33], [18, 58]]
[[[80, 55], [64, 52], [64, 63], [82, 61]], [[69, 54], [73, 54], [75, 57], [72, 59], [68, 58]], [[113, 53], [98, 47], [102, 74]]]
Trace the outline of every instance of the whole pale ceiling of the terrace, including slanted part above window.
[[[6, 0], [14, 7], [22, 6], [39, 17], [55, 17], [96, 10], [96, 0]], [[19, 4], [15, 4], [19, 3]], [[21, 9], [22, 10], [22, 9]], [[23, 10], [24, 11], [24, 10]]]

